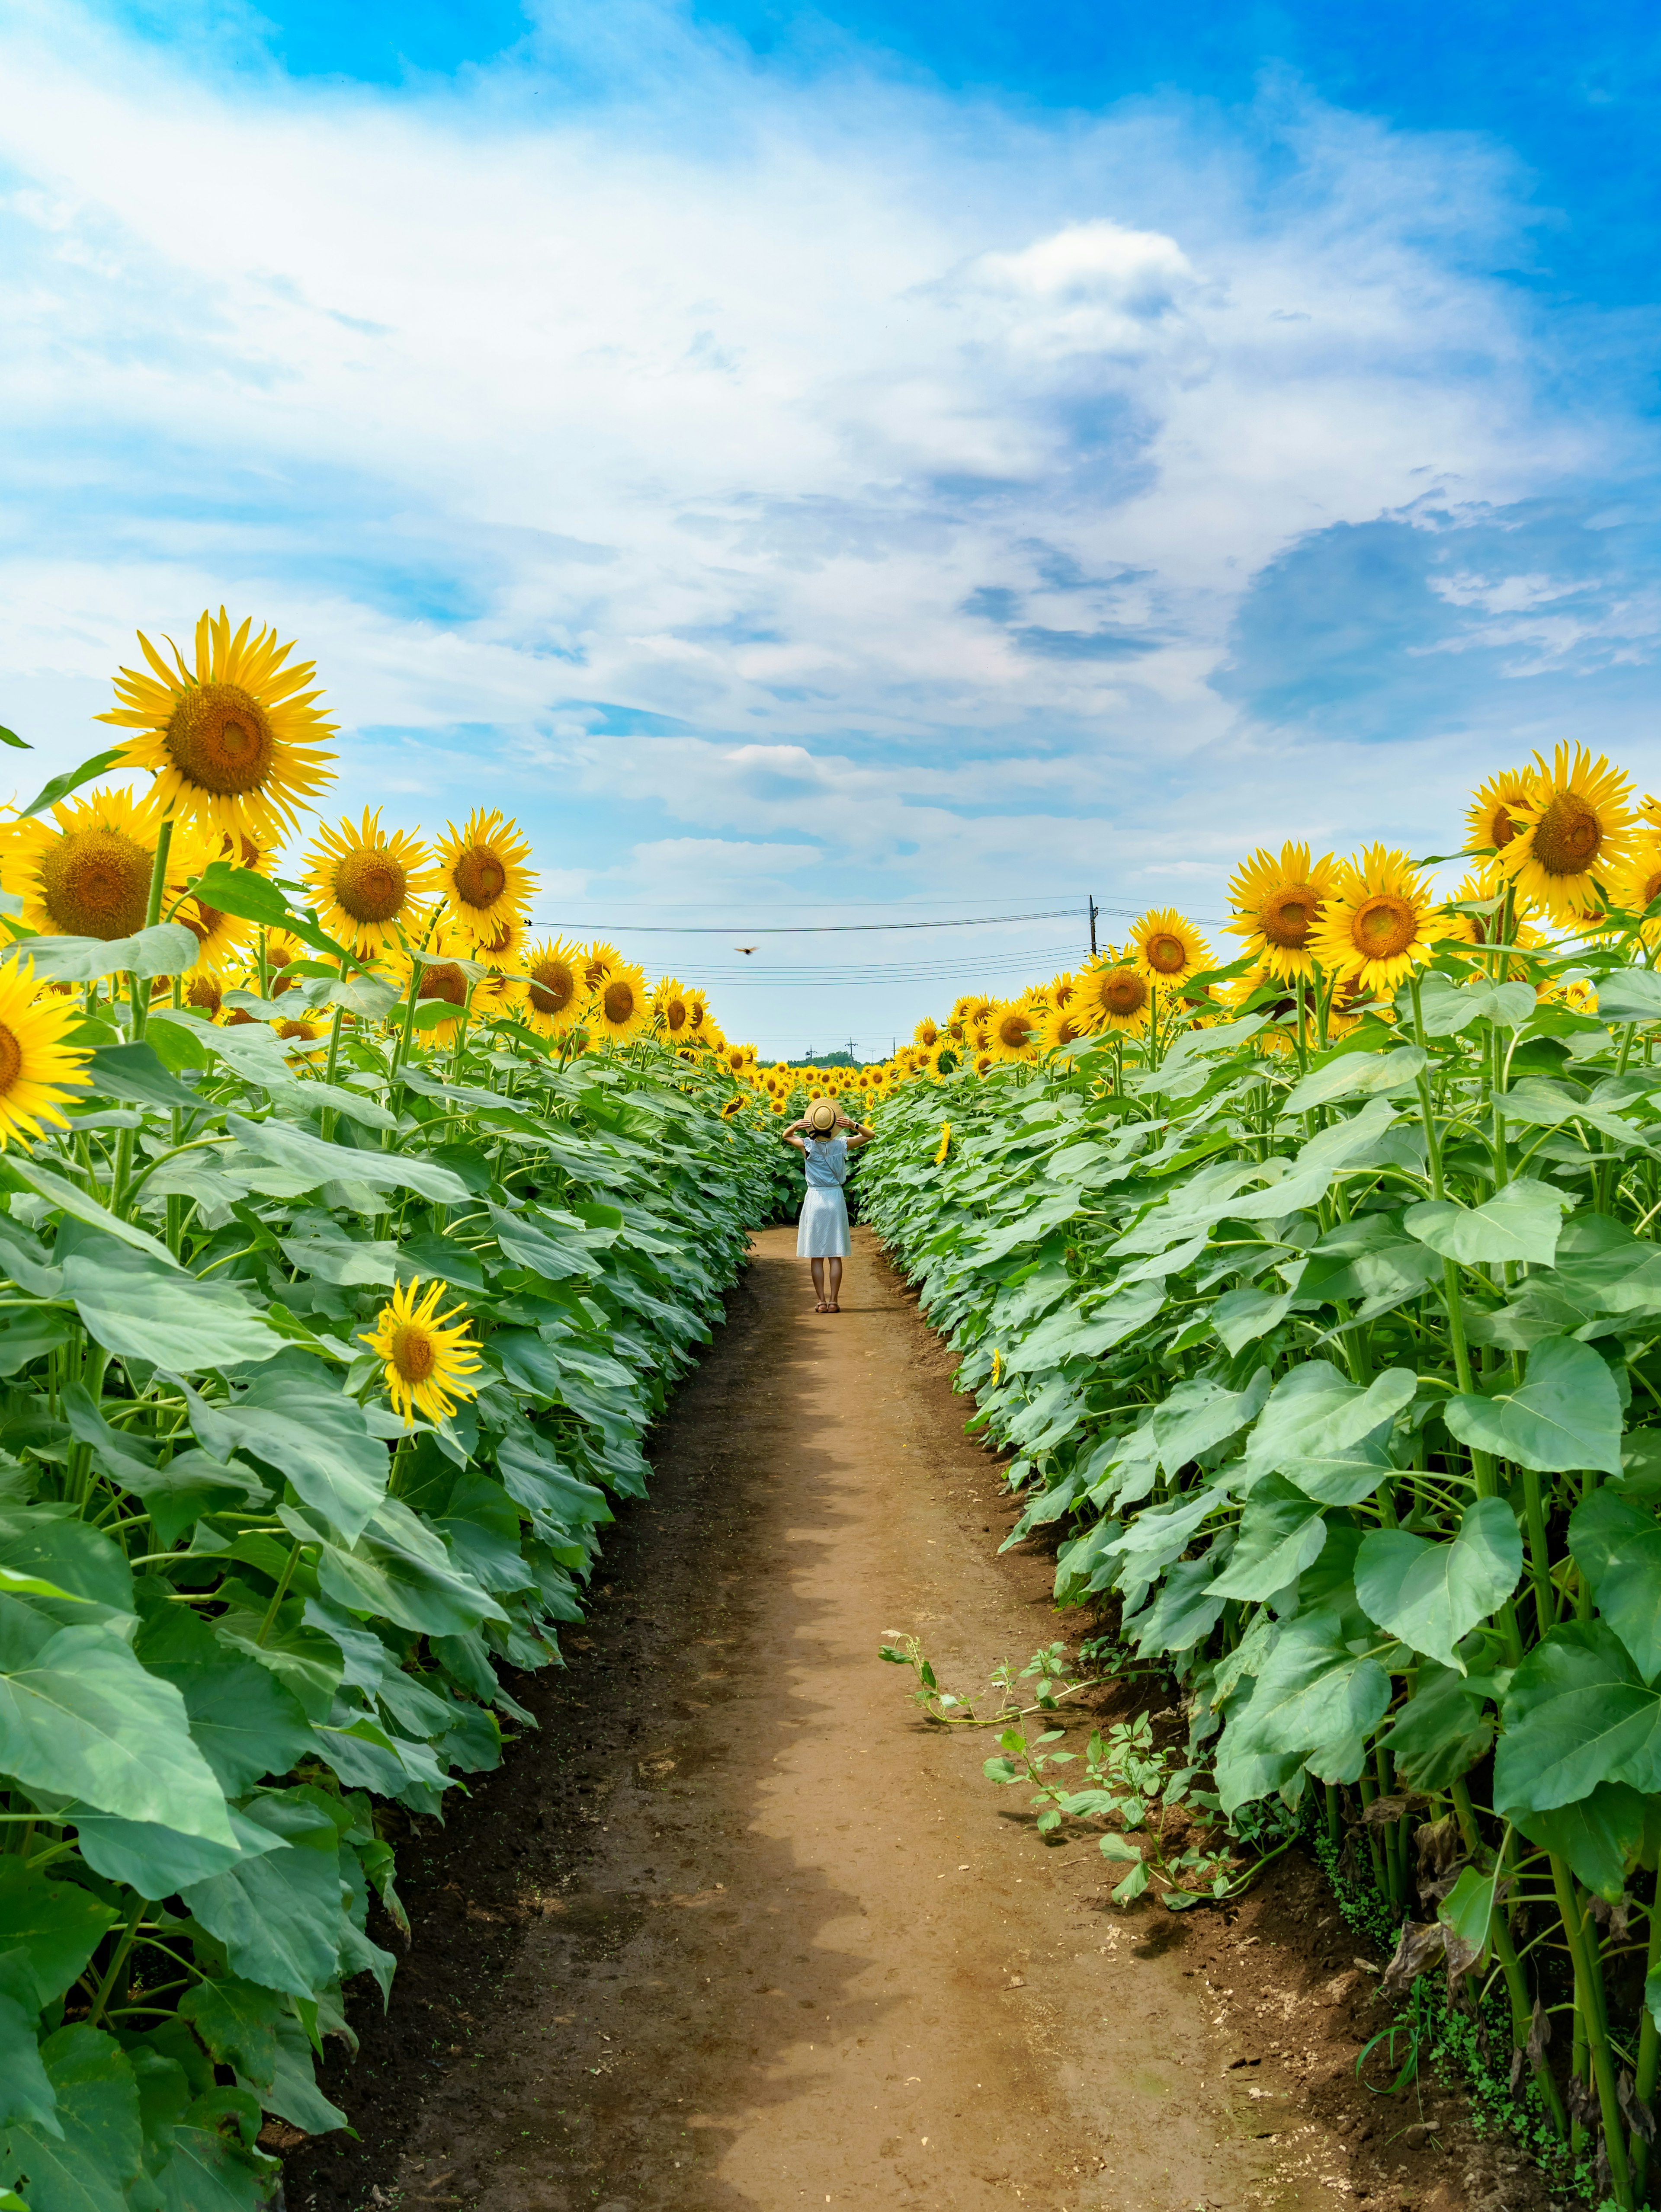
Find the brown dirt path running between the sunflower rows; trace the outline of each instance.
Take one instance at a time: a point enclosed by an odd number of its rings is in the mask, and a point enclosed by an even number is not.
[[[754,1239],[568,1670],[513,1686],[540,1730],[400,1843],[414,1944],[325,2081],[356,2137],[290,2150],[290,2212],[1544,2203],[1458,2095],[1356,2081],[1378,1960],[1316,1867],[1121,1911],[878,1663],[1079,1637],[967,1411],[869,1230],[825,1316]]]

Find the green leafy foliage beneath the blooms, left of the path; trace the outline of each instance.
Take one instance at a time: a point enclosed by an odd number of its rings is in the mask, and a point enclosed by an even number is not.
[[[352,991],[318,967],[283,1013]],[[345,1982],[391,1982],[387,1807],[442,1814],[531,1725],[509,1683],[557,1663],[783,1190],[650,1042],[405,1057],[380,987],[325,1082],[148,995],[82,1024],[71,1128],[0,1155],[0,2203],[31,2212],[248,2212],[263,2115],[341,2124],[314,2057]],[[407,1431],[361,1336],[411,1279],[484,1369]]]

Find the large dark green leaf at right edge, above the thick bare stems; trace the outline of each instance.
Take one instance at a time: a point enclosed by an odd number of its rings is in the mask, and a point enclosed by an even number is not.
[[[1661,1697],[1603,1621],[1550,1628],[1500,1710],[1493,1803],[1508,1820],[1573,1805],[1603,1781],[1661,1790]]]

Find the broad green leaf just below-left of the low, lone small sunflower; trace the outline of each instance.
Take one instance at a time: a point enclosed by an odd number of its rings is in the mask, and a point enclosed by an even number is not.
[[[228,1402],[210,1405],[186,1385],[190,1427],[217,1460],[248,1451],[288,1475],[296,1495],[352,1544],[387,1493],[387,1447],[369,1433],[356,1398],[332,1389],[318,1363],[305,1365],[316,1365],[318,1380],[285,1360],[281,1374],[259,1376]]]

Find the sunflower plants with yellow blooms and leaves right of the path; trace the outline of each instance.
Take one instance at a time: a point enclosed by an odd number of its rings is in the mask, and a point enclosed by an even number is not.
[[[1258,852],[1232,962],[1161,911],[960,1002],[878,1086],[860,1181],[1015,1455],[1015,1537],[1051,1524],[1059,1599],[1179,1679],[1177,1794],[1371,1882],[1385,1993],[1444,1980],[1628,2208],[1661,2057],[1661,803],[1537,757],[1455,858],[1449,898],[1378,847]],[[1099,1741],[1101,1787],[1048,1741],[989,1774],[1101,1832],[1121,1902],[1241,1880],[1161,1856]]]

